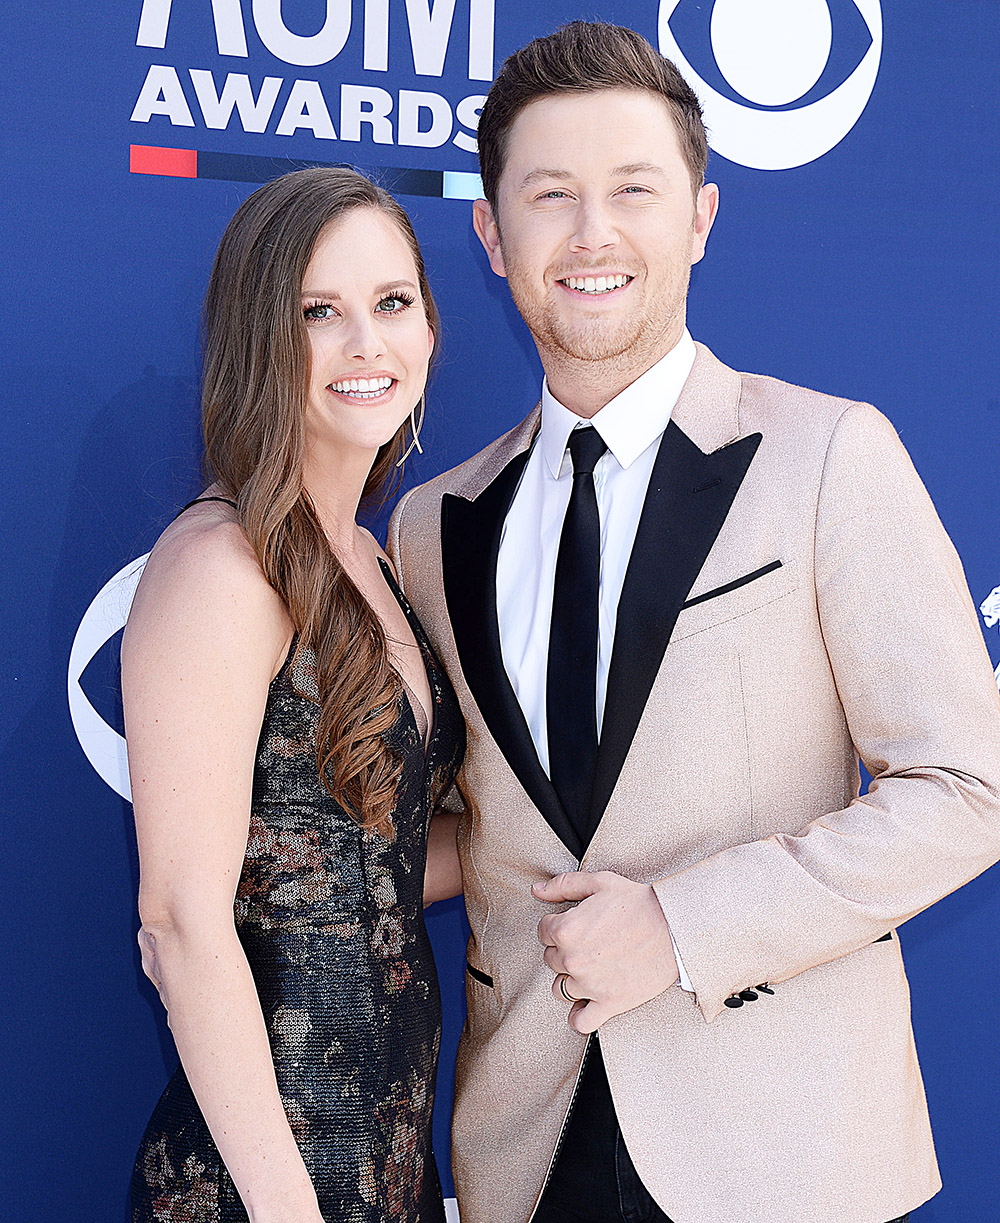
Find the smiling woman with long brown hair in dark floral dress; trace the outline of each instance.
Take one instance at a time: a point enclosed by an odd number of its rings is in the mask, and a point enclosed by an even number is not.
[[[181,1058],[133,1219],[439,1223],[422,906],[460,890],[452,817],[429,848],[428,823],[463,729],[356,522],[416,443],[438,335],[406,214],[348,170],[268,183],[204,322],[215,483],[122,643],[139,943]]]

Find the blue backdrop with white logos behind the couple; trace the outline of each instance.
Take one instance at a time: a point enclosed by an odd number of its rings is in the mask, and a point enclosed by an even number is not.
[[[693,278],[694,336],[737,368],[881,407],[977,604],[1000,585],[995,5],[12,6],[0,481],[0,1213],[11,1219],[120,1223],[174,1062],[134,945],[117,692],[128,583],[99,592],[199,488],[197,319],[222,229],[287,159],[347,161],[400,192],[445,345],[407,479],[458,462],[531,407],[540,377],[469,225],[478,100],[504,56],[581,16],[659,39],[707,104],[722,205]],[[993,615],[984,627],[995,663]],[[999,881],[988,873],[902,931],[945,1179],[918,1223],[996,1208]],[[429,925],[447,1022],[436,1118],[447,1183],[460,904]]]

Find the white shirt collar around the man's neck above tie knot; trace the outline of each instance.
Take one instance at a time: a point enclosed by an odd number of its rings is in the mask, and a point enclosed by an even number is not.
[[[593,424],[620,466],[630,467],[666,428],[693,364],[694,341],[685,328],[666,356],[609,400],[589,421],[560,404],[543,380],[538,444],[553,479],[559,479],[570,434],[583,424]]]

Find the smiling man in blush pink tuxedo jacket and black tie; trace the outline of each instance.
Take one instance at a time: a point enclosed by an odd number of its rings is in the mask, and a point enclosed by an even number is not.
[[[718,190],[639,35],[517,53],[479,148],[542,402],[390,531],[469,728],[463,1223],[899,1219],[940,1183],[894,929],[1000,856],[957,556],[874,408],[688,336]]]

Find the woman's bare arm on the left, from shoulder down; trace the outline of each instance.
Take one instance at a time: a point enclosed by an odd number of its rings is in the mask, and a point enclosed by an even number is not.
[[[290,637],[240,528],[202,511],[156,545],[122,642],[143,967],[253,1223],[322,1223],[232,911]]]

